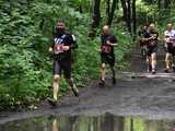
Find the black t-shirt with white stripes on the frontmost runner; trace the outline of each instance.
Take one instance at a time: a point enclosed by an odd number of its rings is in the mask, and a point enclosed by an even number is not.
[[[65,51],[59,49],[58,47],[60,46],[70,46],[70,49]],[[61,35],[60,34],[55,34],[52,38],[52,48],[54,48],[54,55],[61,55],[63,58],[71,58],[71,49],[75,48],[75,37],[71,35],[69,32],[63,32]]]

